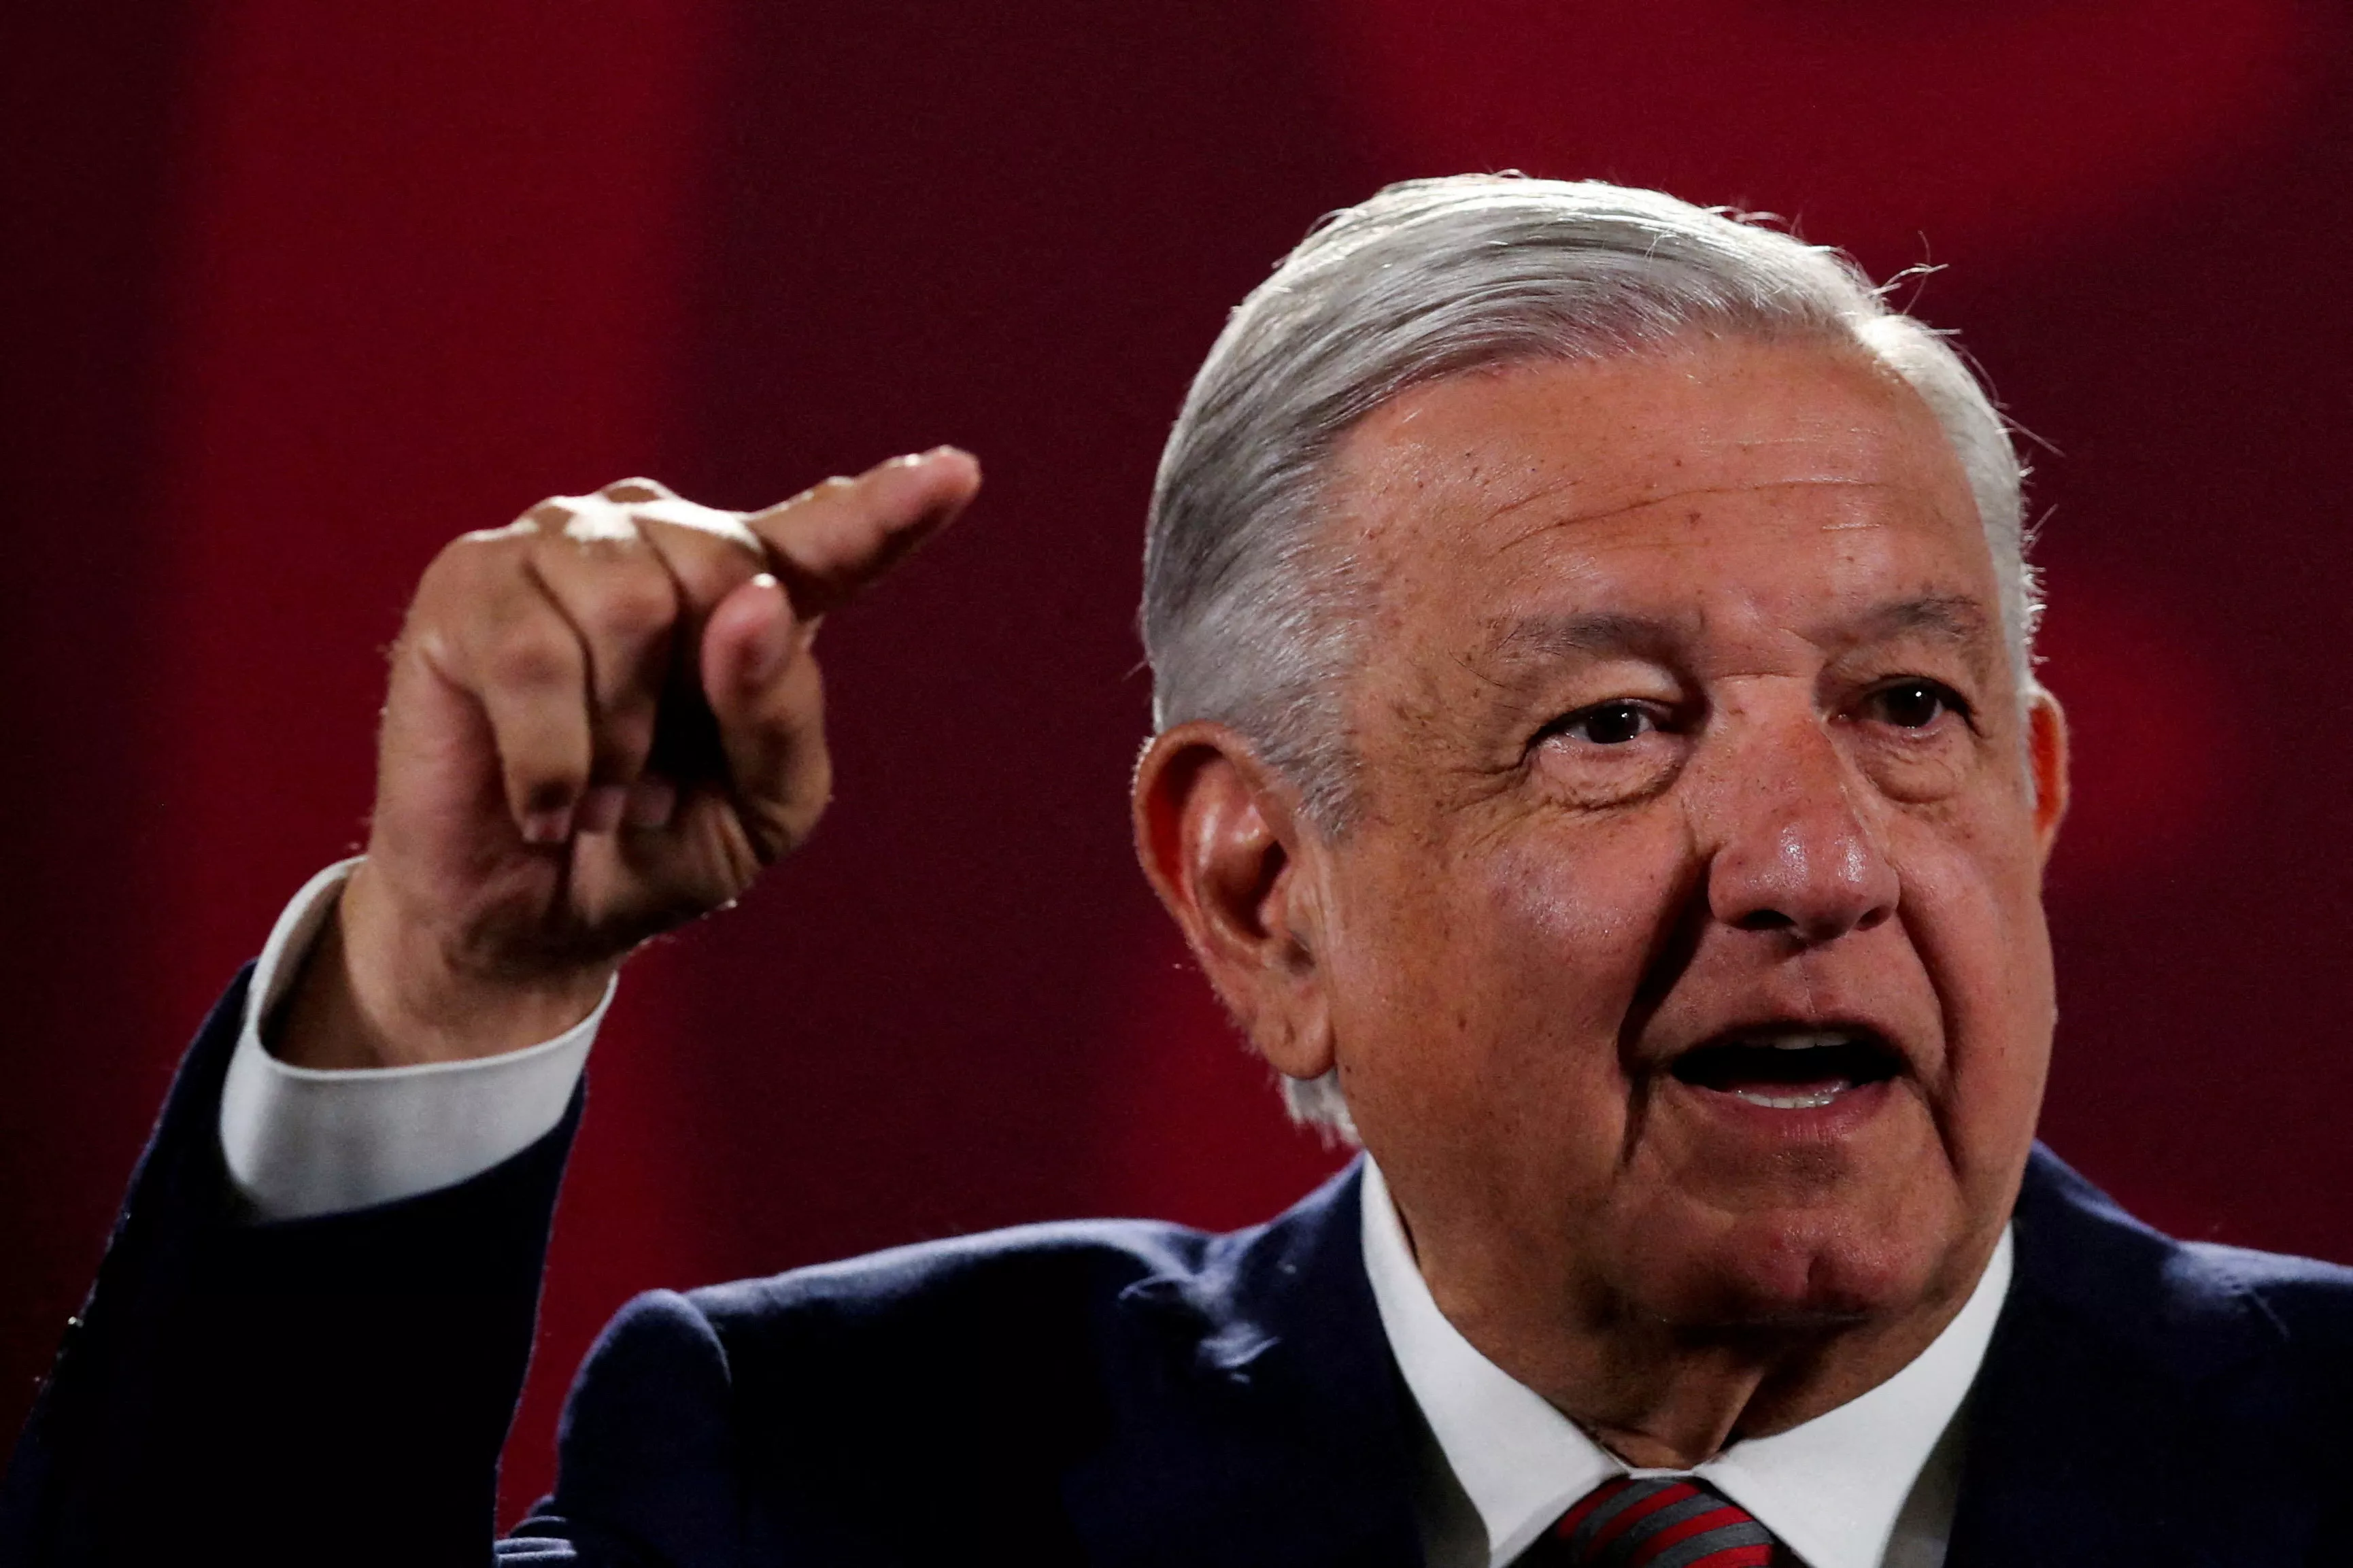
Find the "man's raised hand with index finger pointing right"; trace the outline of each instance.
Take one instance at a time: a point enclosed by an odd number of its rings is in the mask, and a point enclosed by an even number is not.
[[[518,1050],[741,897],[831,791],[819,622],[976,490],[939,447],[760,513],[621,480],[449,544],[393,647],[367,859],[278,1055]]]

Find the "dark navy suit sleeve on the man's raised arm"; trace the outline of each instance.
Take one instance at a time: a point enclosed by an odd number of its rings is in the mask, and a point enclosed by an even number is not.
[[[0,1561],[492,1556],[499,1448],[581,1099],[456,1187],[249,1222],[219,1140],[249,975],[181,1062],[19,1441]]]

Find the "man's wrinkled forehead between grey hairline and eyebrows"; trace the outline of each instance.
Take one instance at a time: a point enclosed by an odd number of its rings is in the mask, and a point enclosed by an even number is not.
[[[1701,341],[1435,381],[1351,433],[1332,494],[1393,614],[1802,631],[1922,596],[1993,614],[1944,431],[1840,346]]]

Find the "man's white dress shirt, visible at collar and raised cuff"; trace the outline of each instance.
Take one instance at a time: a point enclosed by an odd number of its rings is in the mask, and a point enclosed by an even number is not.
[[[553,1041],[475,1062],[320,1071],[261,1043],[358,862],[320,871],[271,930],[221,1090],[221,1151],[266,1220],[391,1203],[464,1182],[544,1137],[572,1099],[612,986]],[[1501,1568],[1569,1504],[1631,1471],[1541,1394],[1471,1347],[1438,1311],[1379,1165],[1365,1163],[1365,1271],[1381,1330],[1419,1406],[1417,1502],[1431,1568]],[[1941,1568],[1960,1481],[1962,1398],[2009,1290],[2012,1243],[1960,1314],[1861,1398],[1697,1474],[1781,1537],[1807,1568]]]

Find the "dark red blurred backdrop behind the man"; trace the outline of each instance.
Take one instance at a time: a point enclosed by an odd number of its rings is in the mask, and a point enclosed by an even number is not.
[[[19,7],[31,12],[33,7]],[[2042,443],[2049,1137],[2353,1257],[2353,59],[2292,0],[151,0],[0,38],[0,1424],[188,1029],[360,833],[438,542],[896,450],[969,525],[828,638],[840,805],[598,1048],[508,1495],[628,1293],[1014,1220],[1242,1222],[1289,1132],[1129,866],[1153,457],[1386,179],[1525,167],[1948,271]]]

